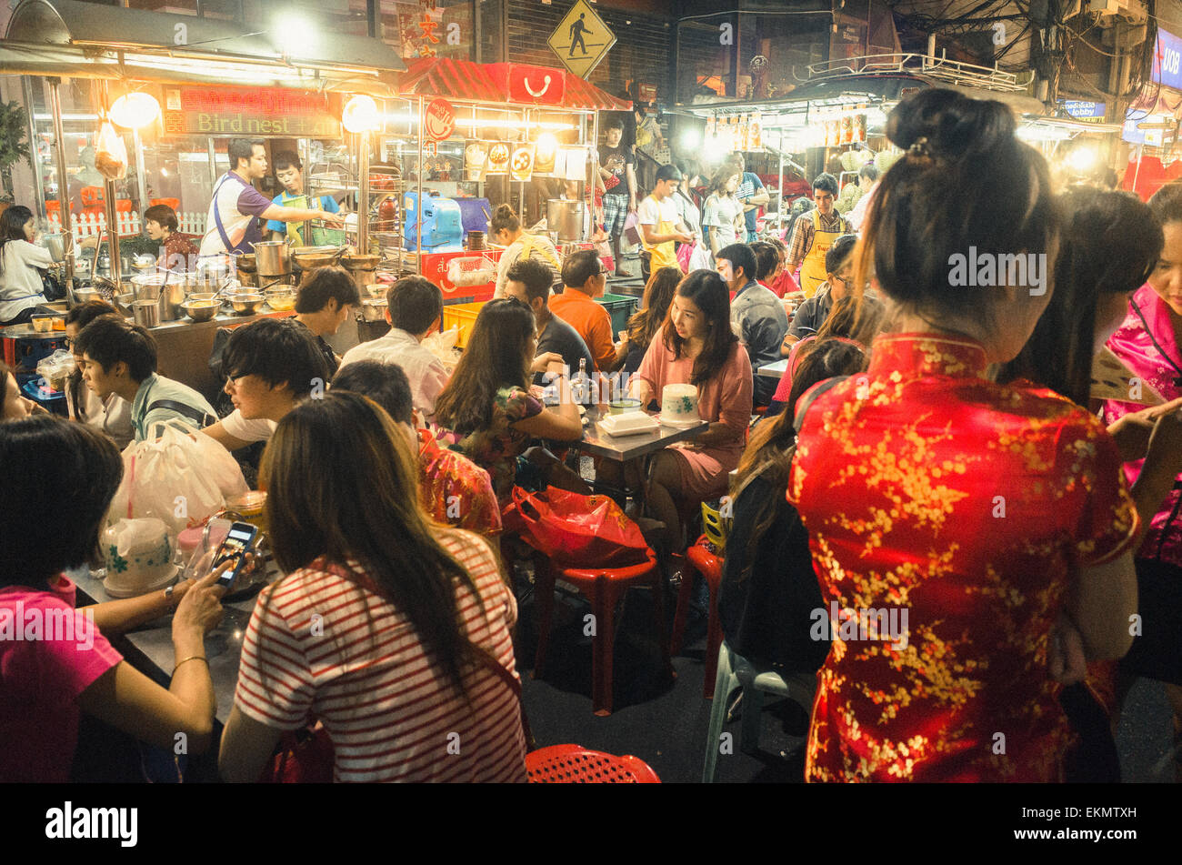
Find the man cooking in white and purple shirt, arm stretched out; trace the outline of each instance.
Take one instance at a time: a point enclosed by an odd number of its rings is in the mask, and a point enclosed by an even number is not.
[[[252,252],[252,245],[262,240],[260,217],[278,222],[304,222],[310,219],[323,219],[332,225],[344,222],[340,214],[279,207],[251,186],[267,173],[267,151],[261,141],[233,138],[227,152],[233,168],[214,187],[206,236],[201,239],[202,259]]]

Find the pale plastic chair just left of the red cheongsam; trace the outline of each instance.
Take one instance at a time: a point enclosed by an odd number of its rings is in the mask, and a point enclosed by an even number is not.
[[[812,715],[813,695],[817,692],[817,675],[782,674],[752,664],[747,658],[730,651],[723,643],[719,646],[717,676],[714,682],[714,704],[710,707],[710,727],[706,734],[706,763],[702,767],[702,783],[714,783],[714,769],[719,762],[719,744],[722,727],[727,721],[727,704],[730,692],[742,688],[742,729],[740,748],[745,754],[759,750],[759,722],[764,710],[764,694],[787,697],[804,707]]]

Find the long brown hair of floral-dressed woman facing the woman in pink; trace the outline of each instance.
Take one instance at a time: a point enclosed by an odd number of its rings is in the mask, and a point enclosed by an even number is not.
[[[488,429],[496,391],[528,385],[526,349],[535,330],[533,310],[517,298],[485,304],[455,372],[435,401],[436,422],[461,436]]]

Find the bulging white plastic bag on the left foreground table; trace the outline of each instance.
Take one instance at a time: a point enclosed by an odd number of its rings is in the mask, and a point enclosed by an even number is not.
[[[183,424],[160,424],[163,435],[123,451],[123,481],[108,521],[156,516],[180,533],[225,509],[247,492],[242,469],[221,444]]]

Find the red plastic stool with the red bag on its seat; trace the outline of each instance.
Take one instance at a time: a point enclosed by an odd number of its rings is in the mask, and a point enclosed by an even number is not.
[[[528,540],[526,540],[528,542]],[[554,613],[554,583],[561,578],[573,584],[583,596],[591,601],[595,612],[596,636],[592,640],[591,655],[591,704],[595,714],[611,714],[611,664],[616,636],[616,604],[632,586],[651,585],[655,594],[652,614],[656,619],[657,639],[661,642],[661,653],[670,678],[677,676],[669,662],[669,644],[664,633],[664,586],[657,557],[647,551],[648,561],[642,565],[623,567],[605,566],[602,568],[560,567],[556,577],[553,562],[545,555],[538,558],[534,574],[539,605],[538,653],[533,662],[533,677],[541,678],[546,665],[546,648],[550,643],[550,627]]]

